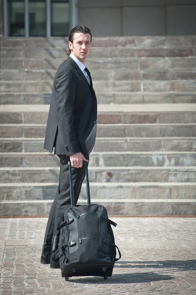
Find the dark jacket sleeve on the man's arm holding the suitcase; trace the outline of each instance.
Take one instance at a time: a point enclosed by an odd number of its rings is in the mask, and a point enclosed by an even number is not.
[[[55,79],[55,109],[58,117],[58,128],[62,134],[66,155],[80,152],[74,125],[74,102],[76,93],[76,78],[70,70],[56,74]]]

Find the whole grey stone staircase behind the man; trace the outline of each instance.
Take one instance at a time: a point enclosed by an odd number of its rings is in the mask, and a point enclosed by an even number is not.
[[[94,38],[91,199],[110,215],[196,215],[196,36]],[[0,216],[47,216],[59,161],[43,149],[62,38],[2,38]],[[83,185],[80,204],[85,204]]]

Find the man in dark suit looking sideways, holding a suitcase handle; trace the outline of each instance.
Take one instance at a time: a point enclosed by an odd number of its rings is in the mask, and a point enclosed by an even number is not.
[[[97,100],[90,72],[85,66],[91,48],[90,29],[76,26],[69,33],[68,59],[57,69],[46,126],[44,148],[60,158],[59,185],[48,218],[41,264],[58,268],[51,260],[56,228],[71,203],[68,161],[71,161],[75,205],[85,177],[83,161],[89,160],[96,137]]]

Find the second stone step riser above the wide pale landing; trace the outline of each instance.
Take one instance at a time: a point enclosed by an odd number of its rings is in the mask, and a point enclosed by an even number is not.
[[[43,81],[4,81],[0,84],[0,92],[46,92],[53,90],[53,80]],[[121,81],[94,81],[93,88],[96,92],[162,92],[162,91],[190,91],[196,92],[195,80],[121,80]]]

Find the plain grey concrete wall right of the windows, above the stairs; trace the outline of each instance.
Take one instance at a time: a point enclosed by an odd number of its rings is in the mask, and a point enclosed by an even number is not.
[[[196,34],[196,0],[79,0],[94,36]]]

